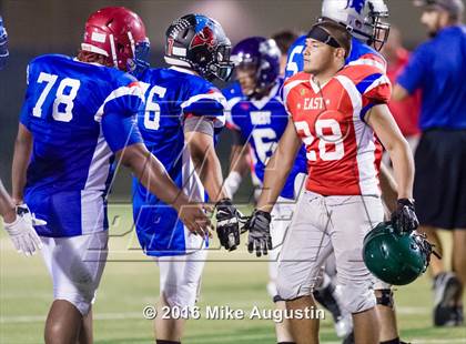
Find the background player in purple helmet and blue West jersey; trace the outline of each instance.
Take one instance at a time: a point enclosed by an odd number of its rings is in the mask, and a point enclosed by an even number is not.
[[[253,173],[262,188],[266,162],[285,131],[288,118],[281,99],[280,90],[283,87],[283,79],[278,77],[280,50],[275,42],[261,37],[242,40],[233,48],[232,60],[236,64],[237,82],[223,90],[229,104],[227,123],[234,138],[231,170],[225,179],[225,189],[231,195],[236,192],[242,175],[250,169],[250,154],[253,154],[251,159]],[[303,146],[272,211],[273,250],[269,259],[267,291],[280,310],[285,310],[285,303],[276,291],[277,260],[283,237],[295,210],[298,196],[298,191],[295,190],[301,190],[306,173]],[[332,296],[333,290],[334,285],[327,279],[325,289],[321,289],[315,294],[317,301],[324,303],[324,306],[332,312],[337,335],[343,337],[352,331],[351,315],[347,314],[350,318],[342,317],[341,310]],[[322,294],[325,293],[328,295],[323,300]],[[278,343],[293,341],[286,320],[277,323],[275,330]]]

